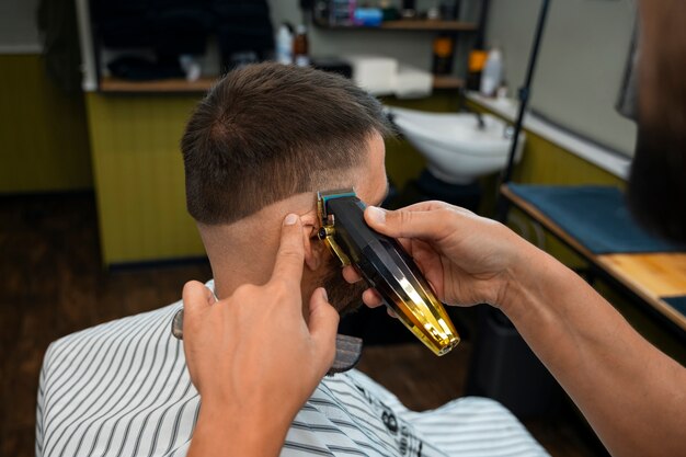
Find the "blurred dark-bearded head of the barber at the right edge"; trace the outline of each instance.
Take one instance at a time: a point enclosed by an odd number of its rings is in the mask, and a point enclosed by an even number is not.
[[[629,204],[659,235],[686,243],[686,2],[641,2],[639,136]]]

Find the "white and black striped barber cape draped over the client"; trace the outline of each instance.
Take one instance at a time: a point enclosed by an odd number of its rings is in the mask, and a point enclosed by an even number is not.
[[[211,286],[211,284],[209,284]],[[199,397],[170,332],[181,301],[50,345],[41,372],[36,456],[185,456]],[[325,378],[282,456],[546,456],[502,405],[462,398],[407,410],[358,372]]]

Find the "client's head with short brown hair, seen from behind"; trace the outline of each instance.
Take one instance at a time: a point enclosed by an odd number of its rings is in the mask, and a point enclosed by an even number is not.
[[[227,75],[201,102],[182,139],[188,213],[198,224],[218,295],[268,279],[281,220],[301,216],[302,290],[325,285],[342,310],[362,290],[341,278],[318,229],[316,192],[386,195],[381,105],[339,76],[260,64]]]

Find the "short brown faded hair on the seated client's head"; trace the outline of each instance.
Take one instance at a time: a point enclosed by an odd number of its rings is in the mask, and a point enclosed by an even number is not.
[[[364,163],[390,129],[381,104],[343,77],[274,62],[233,70],[181,140],[191,216],[231,224]]]

